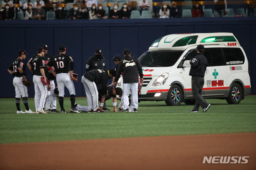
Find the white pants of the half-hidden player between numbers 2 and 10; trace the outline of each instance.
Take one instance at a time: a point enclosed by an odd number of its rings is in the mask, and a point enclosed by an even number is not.
[[[57,108],[56,95],[54,94],[54,89],[55,89],[54,80],[50,80],[50,85],[51,85],[51,89],[50,91],[47,90],[47,95],[46,95],[46,105],[45,105],[46,110],[51,109],[50,104],[52,104],[52,109]]]

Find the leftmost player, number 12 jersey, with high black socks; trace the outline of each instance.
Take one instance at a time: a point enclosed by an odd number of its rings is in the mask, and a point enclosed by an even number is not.
[[[32,112],[28,107],[28,92],[27,87],[22,84],[22,79],[26,78],[26,65],[23,60],[25,60],[26,53],[25,50],[18,51],[18,58],[12,62],[11,66],[8,68],[8,72],[14,76],[13,85],[15,87],[15,103],[17,107],[17,114],[21,113],[35,113]],[[20,98],[22,97],[23,104],[26,107],[26,111],[22,112],[20,109]]]

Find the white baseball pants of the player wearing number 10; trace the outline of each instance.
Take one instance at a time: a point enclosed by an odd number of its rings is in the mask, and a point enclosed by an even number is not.
[[[59,97],[64,97],[64,88],[69,91],[69,95],[75,95],[75,87],[73,81],[70,78],[69,73],[59,73],[56,75],[56,82],[59,90]]]

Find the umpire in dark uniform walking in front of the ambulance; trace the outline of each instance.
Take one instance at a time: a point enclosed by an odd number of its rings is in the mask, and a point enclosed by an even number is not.
[[[203,55],[204,46],[200,44],[196,47],[196,49],[197,55],[192,60],[190,60],[191,67],[189,73],[189,75],[192,76],[192,94],[196,99],[196,103],[190,112],[198,112],[199,106],[203,108],[203,112],[206,112],[210,107],[210,104],[202,97],[202,90],[204,85],[204,74],[208,65],[208,61]]]

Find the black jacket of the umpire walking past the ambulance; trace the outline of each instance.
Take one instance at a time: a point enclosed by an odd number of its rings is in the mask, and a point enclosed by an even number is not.
[[[204,77],[208,61],[202,52],[198,53],[194,58],[192,58],[190,65],[191,67],[189,75]]]

